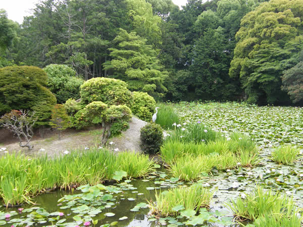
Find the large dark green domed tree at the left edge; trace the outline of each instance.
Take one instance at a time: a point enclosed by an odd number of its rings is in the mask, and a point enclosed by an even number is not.
[[[46,82],[46,73],[38,67],[0,69],[0,115],[11,109],[29,109],[36,111],[36,125],[47,124],[56,97],[44,87]]]

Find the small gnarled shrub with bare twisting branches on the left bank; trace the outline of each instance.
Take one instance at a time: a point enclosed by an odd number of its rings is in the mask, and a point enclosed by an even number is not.
[[[34,115],[35,112],[13,109],[0,119],[0,124],[16,135],[20,147],[27,147],[29,150],[34,147],[30,145],[30,140],[34,135],[33,126],[37,121]]]

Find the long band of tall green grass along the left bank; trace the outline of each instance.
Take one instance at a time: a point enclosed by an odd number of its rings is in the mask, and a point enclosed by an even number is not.
[[[125,171],[129,178],[143,177],[154,171],[154,161],[144,154],[116,155],[97,148],[76,150],[53,159],[7,154],[0,157],[0,195],[7,205],[30,202],[31,196],[47,190],[112,180],[118,170]]]

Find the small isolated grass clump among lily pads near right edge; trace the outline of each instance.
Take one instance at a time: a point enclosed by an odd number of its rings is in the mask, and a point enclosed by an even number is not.
[[[287,146],[280,146],[272,152],[272,160],[277,163],[283,163],[285,165],[291,165],[293,161],[297,159],[297,155],[299,154],[299,149],[287,145]]]

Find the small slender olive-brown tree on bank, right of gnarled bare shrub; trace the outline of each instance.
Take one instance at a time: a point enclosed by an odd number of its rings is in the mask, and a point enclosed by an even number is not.
[[[67,129],[70,126],[70,118],[67,115],[66,109],[62,104],[56,104],[52,109],[51,123],[52,128],[59,131],[58,139],[61,139],[61,131]]]

